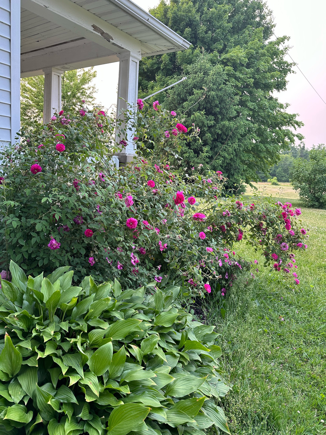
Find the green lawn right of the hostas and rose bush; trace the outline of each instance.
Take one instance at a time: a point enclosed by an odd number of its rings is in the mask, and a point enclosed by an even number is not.
[[[326,210],[302,212],[310,238],[296,254],[299,286],[260,257],[256,278],[227,296],[224,319],[206,298],[233,384],[223,401],[233,434],[326,434]],[[257,258],[245,242],[237,252]]]

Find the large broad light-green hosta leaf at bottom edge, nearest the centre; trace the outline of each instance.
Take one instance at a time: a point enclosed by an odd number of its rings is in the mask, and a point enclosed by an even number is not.
[[[110,414],[108,435],[126,435],[145,420],[150,408],[136,403],[127,403],[114,408]]]

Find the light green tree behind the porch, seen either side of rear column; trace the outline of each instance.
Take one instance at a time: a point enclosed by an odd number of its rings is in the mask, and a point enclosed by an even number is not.
[[[76,110],[81,100],[92,104],[96,87],[91,84],[96,77],[93,67],[89,70],[71,70],[62,74],[62,108]],[[44,76],[27,77],[20,80],[20,116],[22,123],[31,118],[43,119]]]

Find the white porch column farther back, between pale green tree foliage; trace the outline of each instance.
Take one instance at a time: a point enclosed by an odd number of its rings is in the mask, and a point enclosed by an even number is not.
[[[43,124],[50,122],[55,112],[61,110],[61,74],[57,68],[44,68]]]

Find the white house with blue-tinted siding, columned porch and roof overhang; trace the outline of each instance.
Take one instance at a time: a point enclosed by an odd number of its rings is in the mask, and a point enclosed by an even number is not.
[[[46,123],[60,110],[63,71],[119,62],[119,114],[136,104],[143,56],[189,47],[130,0],[0,0],[0,141],[14,142],[20,128],[20,77],[45,74]]]

